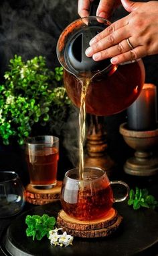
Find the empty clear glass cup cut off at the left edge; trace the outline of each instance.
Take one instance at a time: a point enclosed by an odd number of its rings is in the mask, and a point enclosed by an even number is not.
[[[0,171],[0,218],[14,216],[25,204],[25,189],[19,175],[12,171]]]

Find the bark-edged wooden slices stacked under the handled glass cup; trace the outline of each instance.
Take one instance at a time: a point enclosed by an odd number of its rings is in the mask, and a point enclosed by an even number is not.
[[[58,214],[57,226],[72,236],[96,238],[112,234],[120,226],[122,220],[123,217],[114,208],[104,218],[92,221],[76,220],[61,210]]]

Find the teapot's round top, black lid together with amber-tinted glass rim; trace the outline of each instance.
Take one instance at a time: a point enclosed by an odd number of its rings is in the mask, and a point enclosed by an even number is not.
[[[94,61],[85,54],[90,40],[110,25],[108,20],[89,16],[72,22],[60,35],[57,55],[62,66],[75,75],[102,71],[111,63],[110,59]]]

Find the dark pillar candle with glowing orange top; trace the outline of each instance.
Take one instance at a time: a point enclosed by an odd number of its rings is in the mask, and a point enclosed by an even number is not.
[[[144,84],[141,94],[127,108],[127,125],[131,130],[149,131],[157,127],[157,88]]]

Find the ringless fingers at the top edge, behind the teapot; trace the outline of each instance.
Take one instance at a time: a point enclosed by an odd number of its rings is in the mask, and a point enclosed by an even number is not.
[[[94,0],[78,0],[78,14],[80,17],[89,16],[90,3]],[[120,0],[100,0],[96,16],[104,19],[110,18],[113,9],[120,3]]]

